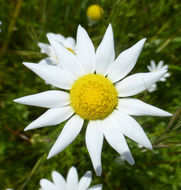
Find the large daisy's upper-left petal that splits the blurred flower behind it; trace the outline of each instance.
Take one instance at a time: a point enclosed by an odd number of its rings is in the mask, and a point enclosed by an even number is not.
[[[59,44],[58,42],[54,41],[47,35],[54,51],[56,53],[57,59],[61,67],[71,73],[75,79],[80,76],[82,73],[82,68],[78,64],[75,55],[70,52],[67,48]],[[82,72],[81,72],[82,71]]]

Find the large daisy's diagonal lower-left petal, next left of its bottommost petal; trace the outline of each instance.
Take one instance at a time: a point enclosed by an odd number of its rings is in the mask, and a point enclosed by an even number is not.
[[[74,115],[67,121],[58,139],[51,148],[47,157],[48,159],[64,150],[69,144],[73,142],[73,140],[80,133],[83,126],[83,122],[84,120],[80,118],[78,115]]]

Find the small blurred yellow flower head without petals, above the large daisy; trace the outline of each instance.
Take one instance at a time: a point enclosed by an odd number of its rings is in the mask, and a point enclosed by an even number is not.
[[[100,20],[102,18],[102,14],[103,9],[97,4],[93,4],[87,9],[87,16],[93,21]]]

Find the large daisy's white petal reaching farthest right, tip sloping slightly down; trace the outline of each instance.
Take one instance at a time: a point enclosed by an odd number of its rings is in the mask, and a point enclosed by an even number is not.
[[[121,98],[117,108],[128,115],[172,116],[172,114],[164,110],[133,98]]]

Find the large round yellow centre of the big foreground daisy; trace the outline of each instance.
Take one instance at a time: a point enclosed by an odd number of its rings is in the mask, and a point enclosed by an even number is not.
[[[87,74],[73,84],[70,102],[75,113],[83,119],[104,119],[117,106],[118,93],[108,78]]]

